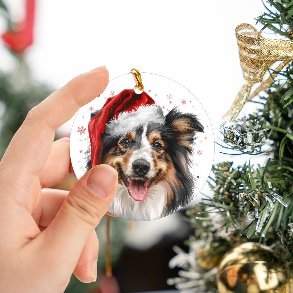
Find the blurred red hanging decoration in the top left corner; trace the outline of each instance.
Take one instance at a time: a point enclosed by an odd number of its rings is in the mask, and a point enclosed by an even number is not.
[[[35,0],[26,0],[25,19],[16,24],[14,30],[2,35],[6,45],[16,53],[22,53],[33,43],[33,27],[35,20]]]

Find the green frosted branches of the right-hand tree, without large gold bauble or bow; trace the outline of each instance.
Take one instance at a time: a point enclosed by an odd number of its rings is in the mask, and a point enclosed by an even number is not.
[[[263,23],[263,30],[270,29],[280,38],[293,39],[293,0],[268,0],[264,5],[265,13],[257,18],[257,22]],[[262,92],[262,108],[233,125],[221,126],[221,145],[229,153],[268,153],[271,159],[265,166],[235,167],[232,162],[214,165],[208,179],[213,197],[205,198],[186,212],[194,235],[185,242],[191,260],[184,258],[181,267],[201,273],[205,292],[217,292],[213,281],[216,272],[201,268],[198,260],[195,266],[193,255],[198,255],[201,248],[206,250],[208,262],[221,258],[239,243],[260,242],[272,246],[293,275],[292,62],[277,74],[270,88]],[[213,265],[217,267],[214,262]],[[179,278],[173,282],[181,288],[186,285],[184,282],[191,284],[191,280],[191,277]],[[198,277],[192,289],[202,292],[197,280]]]

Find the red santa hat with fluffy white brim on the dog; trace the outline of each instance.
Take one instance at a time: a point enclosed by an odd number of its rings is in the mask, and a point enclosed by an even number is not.
[[[101,163],[105,132],[113,135],[125,135],[137,125],[149,121],[163,124],[164,117],[155,101],[146,93],[137,94],[134,89],[125,89],[118,95],[108,98],[99,113],[88,123],[91,142],[91,167]]]

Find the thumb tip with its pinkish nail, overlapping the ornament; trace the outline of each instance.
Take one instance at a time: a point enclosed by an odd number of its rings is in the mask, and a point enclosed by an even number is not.
[[[99,165],[88,178],[88,187],[98,196],[107,197],[117,184],[117,171],[108,165]]]

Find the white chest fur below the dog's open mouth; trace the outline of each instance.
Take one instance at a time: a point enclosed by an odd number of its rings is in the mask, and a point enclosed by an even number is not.
[[[149,188],[144,201],[133,200],[127,189],[118,184],[117,192],[108,211],[118,217],[146,221],[161,218],[166,209],[166,204],[167,193],[160,184]]]

